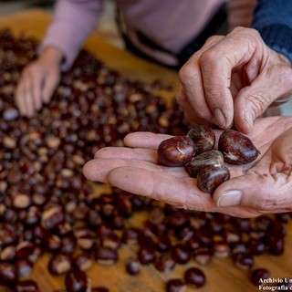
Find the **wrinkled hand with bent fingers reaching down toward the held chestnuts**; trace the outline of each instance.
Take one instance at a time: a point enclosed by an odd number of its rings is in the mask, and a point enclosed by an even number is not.
[[[255,29],[236,27],[212,36],[181,68],[177,100],[191,123],[249,133],[276,99],[292,95],[287,57],[266,46]]]

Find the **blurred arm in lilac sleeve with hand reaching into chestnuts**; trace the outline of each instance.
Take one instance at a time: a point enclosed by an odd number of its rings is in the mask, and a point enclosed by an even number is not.
[[[101,11],[101,0],[59,0],[36,60],[24,68],[16,88],[20,114],[32,117],[52,97],[60,71],[68,70]]]

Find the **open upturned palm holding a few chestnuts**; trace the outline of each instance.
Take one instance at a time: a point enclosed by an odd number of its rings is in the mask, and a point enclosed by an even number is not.
[[[110,183],[122,190],[203,212],[237,217],[292,210],[292,117],[255,120],[248,137],[261,152],[253,165],[226,165],[231,179],[212,196],[203,193],[183,167],[157,164],[156,149],[171,136],[135,132],[126,147],[107,147],[84,166],[91,181]],[[217,138],[222,130],[215,130]]]

